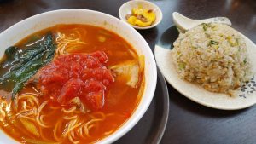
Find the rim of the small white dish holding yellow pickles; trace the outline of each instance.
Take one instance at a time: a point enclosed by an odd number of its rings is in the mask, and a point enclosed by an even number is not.
[[[125,8],[125,6],[126,6],[127,4],[129,4],[129,3],[137,3],[137,2],[150,4],[150,5],[152,5],[155,9],[157,9],[157,10],[160,12],[160,15],[159,15],[159,18],[158,18],[159,20],[158,20],[158,21],[155,21],[155,22],[153,23],[153,25],[151,25],[151,26],[144,26],[144,27],[141,27],[141,26],[133,26],[133,25],[129,24],[129,23],[127,22],[127,20],[124,20],[123,17],[122,17],[121,11]],[[156,16],[157,16],[157,15],[156,15]],[[138,30],[147,30],[147,29],[153,28],[154,26],[157,26],[158,24],[160,24],[160,22],[161,22],[162,19],[163,19],[163,14],[162,14],[161,9],[160,9],[156,4],[154,4],[154,3],[151,3],[151,2],[148,2],[148,1],[145,1],[145,0],[131,0],[131,1],[128,1],[128,2],[126,2],[126,3],[123,3],[123,4],[120,6],[120,8],[119,8],[119,19],[125,21],[125,23],[127,23],[128,25],[130,25],[130,26],[132,26],[133,28],[136,28],[136,29],[138,29]]]

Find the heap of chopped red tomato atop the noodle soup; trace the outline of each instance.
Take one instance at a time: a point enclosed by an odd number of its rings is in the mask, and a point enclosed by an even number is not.
[[[39,89],[61,105],[79,97],[87,107],[100,109],[104,106],[104,93],[114,80],[104,65],[107,61],[103,51],[60,55],[39,71]]]

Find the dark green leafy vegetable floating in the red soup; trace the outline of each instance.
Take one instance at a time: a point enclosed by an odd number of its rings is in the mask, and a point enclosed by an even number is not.
[[[26,85],[39,68],[49,63],[55,54],[55,43],[49,33],[34,43],[26,44],[26,49],[12,46],[5,50],[5,60],[0,66],[0,89],[12,92],[12,99]]]

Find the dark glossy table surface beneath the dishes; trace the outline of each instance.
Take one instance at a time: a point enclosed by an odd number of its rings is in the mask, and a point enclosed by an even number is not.
[[[0,0],[2,1],[2,0]],[[173,26],[172,12],[194,19],[226,16],[232,26],[256,43],[256,1],[254,0],[155,0],[163,12],[159,26],[139,31],[151,49],[162,32]],[[34,14],[55,9],[93,9],[118,17],[124,0],[9,0],[0,3],[0,32]],[[170,112],[161,143],[213,144],[255,143],[256,106],[239,111],[203,107],[179,94],[168,84]]]

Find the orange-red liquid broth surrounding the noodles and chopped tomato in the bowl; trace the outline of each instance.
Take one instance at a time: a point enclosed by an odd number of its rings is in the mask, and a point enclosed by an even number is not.
[[[88,112],[77,112],[76,116],[79,118],[81,123],[85,123],[86,121],[90,121],[92,118],[100,118],[103,120],[97,121],[93,127],[89,130],[89,135],[78,136],[78,134],[73,134],[73,141],[79,143],[95,143],[96,141],[100,141],[108,135],[113,134],[114,131],[118,130],[119,127],[125,123],[130,117],[132,112],[134,112],[137,108],[139,101],[141,100],[141,96],[143,94],[144,89],[144,72],[141,66],[141,62],[139,60],[139,55],[132,48],[130,43],[127,43],[125,39],[120,37],[114,32],[110,32],[102,27],[97,26],[89,26],[89,25],[57,25],[50,28],[47,28],[43,31],[33,33],[32,35],[22,39],[19,43],[15,44],[21,49],[26,49],[26,44],[30,43],[32,39],[35,37],[43,37],[46,33],[51,32],[55,37],[55,44],[57,47],[61,47],[61,38],[60,35],[65,35],[66,37],[72,39],[79,38],[82,42],[75,46],[72,46],[72,43],[69,43],[70,48],[65,49],[69,55],[91,55],[95,52],[101,51],[103,52],[108,60],[101,63],[101,66],[106,68],[108,72],[112,72],[113,81],[110,79],[108,84],[104,86],[104,103],[102,107],[91,108]],[[59,37],[59,39],[58,39]],[[68,39],[67,38],[67,39]],[[66,43],[67,44],[67,43]],[[68,44],[67,44],[68,45]],[[55,52],[55,58],[45,67],[49,66],[54,60],[57,60],[61,54],[59,52]],[[4,57],[3,57],[4,60]],[[118,74],[114,73],[110,67],[116,65],[122,65],[123,63],[127,63],[127,61],[133,61],[137,66],[140,67],[140,71],[138,74],[138,81],[135,86],[131,86],[127,84],[127,78],[122,77],[119,78]],[[72,65],[72,63],[67,63],[67,65]],[[69,71],[73,71],[74,69],[68,69]],[[1,70],[1,71],[4,71]],[[40,70],[39,70],[40,71]],[[58,70],[56,70],[58,71]],[[105,71],[105,70],[104,70]],[[65,72],[64,72],[65,73]],[[40,74],[40,72],[39,72]],[[41,73],[42,74],[42,73]],[[101,74],[101,73],[100,73]],[[40,76],[39,76],[40,77]],[[91,76],[94,77],[94,76]],[[99,76],[105,77],[105,76]],[[109,76],[110,77],[110,76]],[[109,78],[108,77],[108,78]],[[104,81],[105,82],[105,81]],[[38,82],[39,83],[39,82]],[[100,82],[102,83],[102,81]],[[37,89],[38,84],[27,84],[20,92],[19,96],[28,93],[40,93],[41,89]],[[49,87],[48,87],[49,86]],[[45,84],[44,87],[55,88],[52,84]],[[47,89],[47,88],[46,88]],[[56,88],[57,89],[57,88]],[[93,89],[93,88],[89,88]],[[84,92],[86,93],[86,92]],[[83,93],[83,94],[84,94]],[[67,93],[67,95],[72,95],[71,93]],[[79,93],[83,95],[82,93]],[[75,95],[77,95],[75,93]],[[63,108],[66,110],[71,108],[70,106],[63,107],[58,101],[54,101],[50,98],[49,95],[38,94],[36,95],[39,101],[39,105],[44,104],[44,101],[48,101],[48,103],[44,106],[41,113],[46,117],[44,121],[52,126],[44,128],[37,124],[33,119],[28,119],[30,123],[34,124],[38,130],[39,135],[33,135],[31,131],[26,130],[26,126],[24,123],[20,122],[20,117],[15,117],[17,112],[13,109],[14,102],[11,103],[11,112],[6,114],[3,121],[0,121],[0,126],[3,131],[5,131],[9,136],[14,138],[16,141],[24,142],[24,143],[33,143],[35,141],[51,141],[51,142],[60,142],[60,143],[73,143],[73,141],[68,138],[68,136],[64,135],[63,131],[65,128],[67,129],[67,123],[65,120],[61,122],[59,125],[59,130],[56,131],[55,135],[57,135],[57,139],[54,135],[55,126],[60,119],[65,117],[65,112],[63,112]],[[1,97],[1,93],[0,93]],[[3,100],[0,99],[3,102]],[[18,102],[19,105],[22,104],[22,101]],[[8,104],[6,104],[8,105]],[[99,104],[100,105],[100,104]],[[97,105],[97,106],[99,106]],[[1,106],[1,105],[0,105]],[[61,107],[59,109],[53,110],[52,107]],[[88,108],[88,107],[87,107]],[[4,110],[3,110],[4,111]],[[19,107],[18,107],[19,111]],[[7,113],[7,112],[6,112]],[[50,117],[47,117],[50,115]],[[35,116],[36,118],[36,116]],[[78,130],[79,131],[79,130]],[[75,133],[75,132],[74,132]],[[79,133],[79,132],[78,132]],[[69,135],[70,136],[70,135]]]

